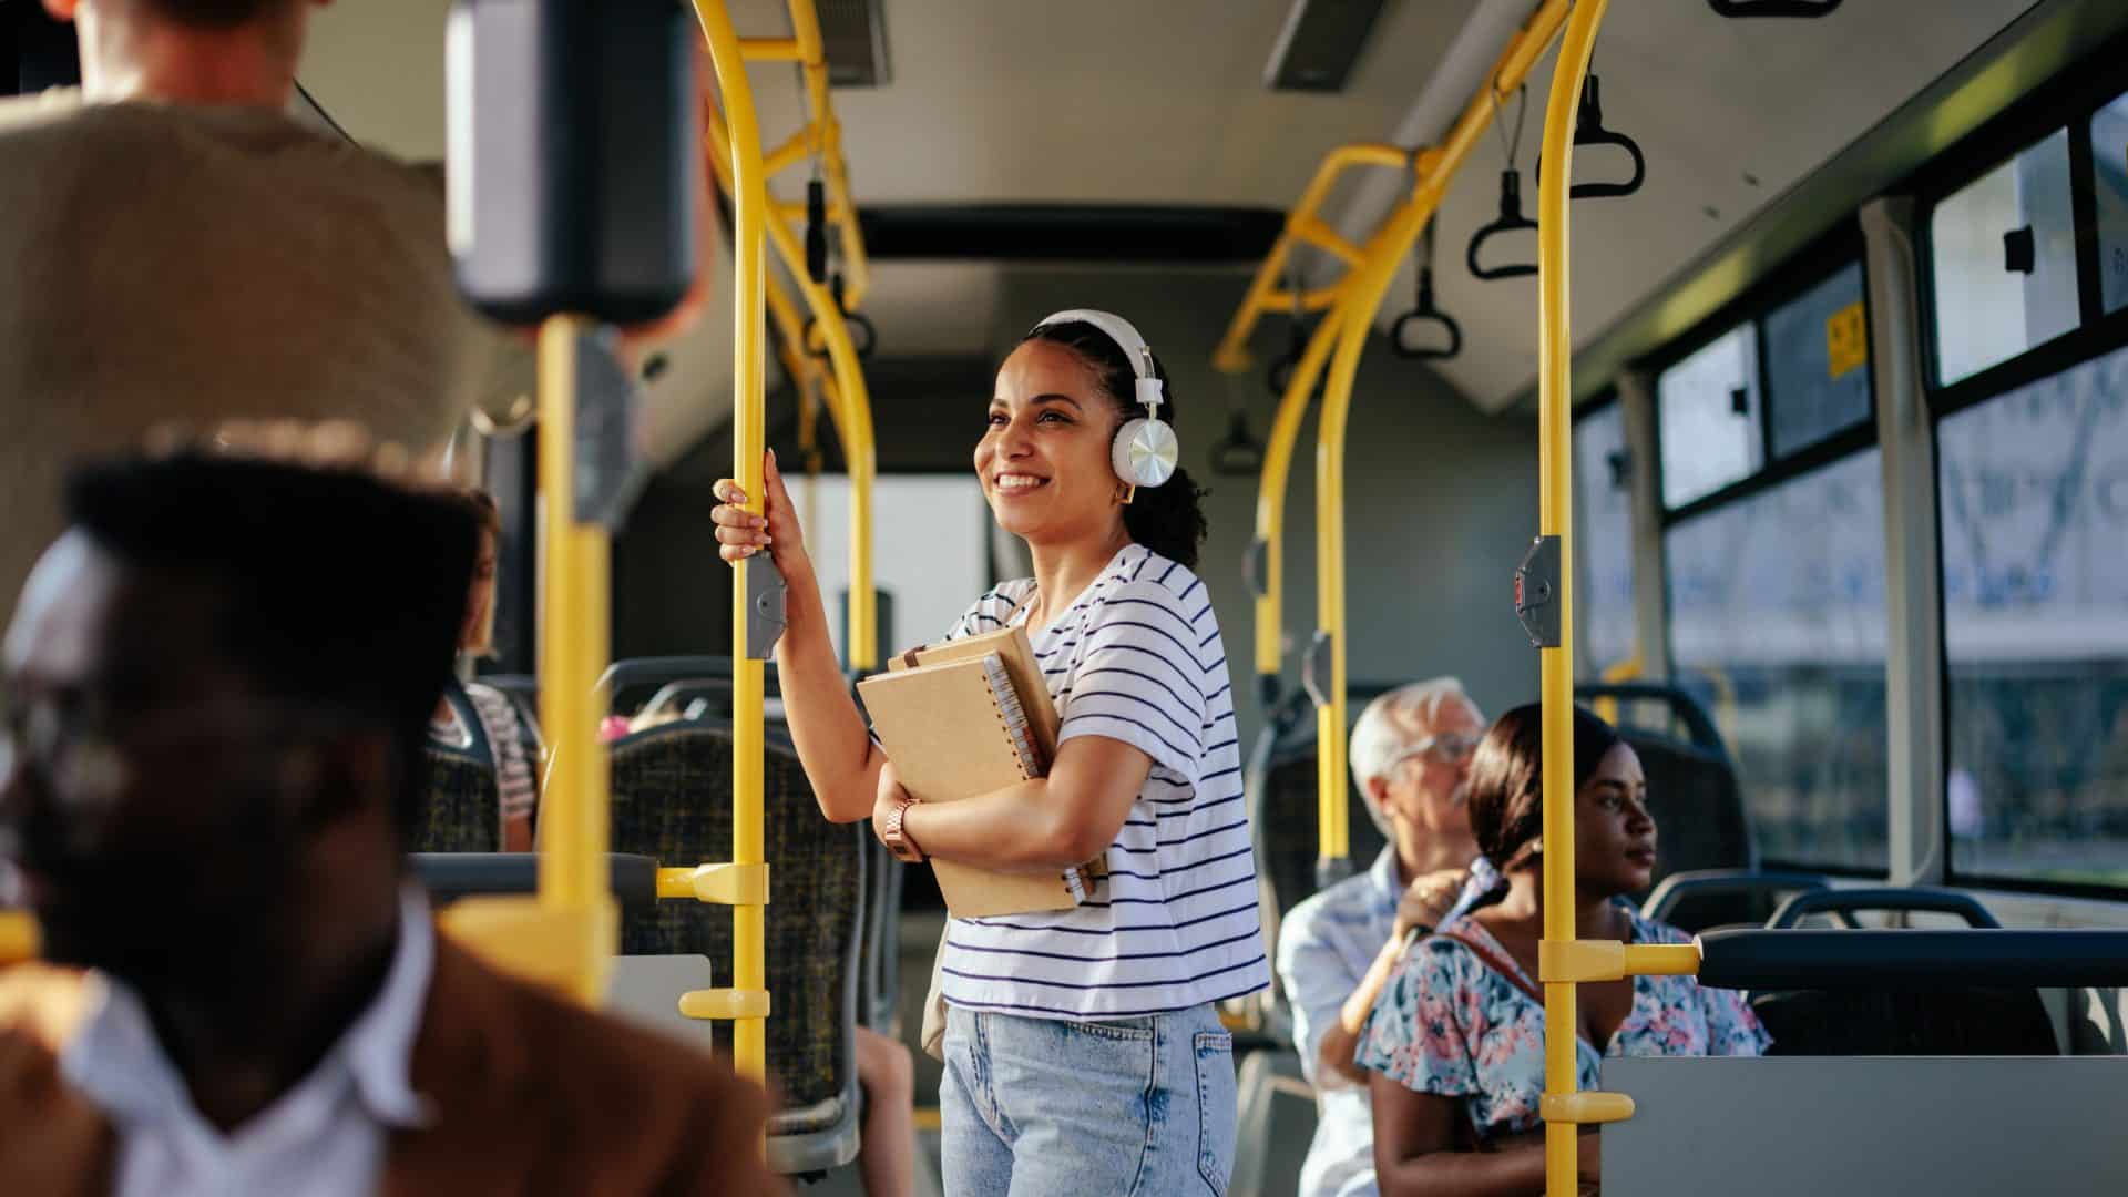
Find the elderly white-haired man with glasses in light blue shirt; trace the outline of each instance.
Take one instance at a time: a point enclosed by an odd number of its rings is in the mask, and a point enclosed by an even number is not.
[[[1409,935],[1498,880],[1462,803],[1481,735],[1485,716],[1453,677],[1392,690],[1351,728],[1351,777],[1390,843],[1366,873],[1296,905],[1279,929],[1279,982],[1319,1112],[1300,1197],[1377,1193],[1375,1122],[1353,1044]]]

